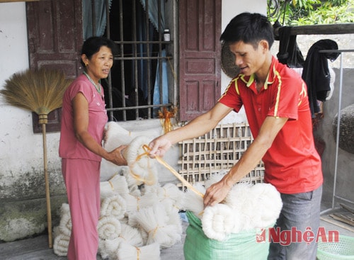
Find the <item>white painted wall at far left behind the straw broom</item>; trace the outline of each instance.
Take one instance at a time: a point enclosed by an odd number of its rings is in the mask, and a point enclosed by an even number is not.
[[[15,72],[28,69],[25,3],[0,4],[0,89]],[[0,97],[1,181],[14,181],[25,172],[42,166],[42,135],[33,134],[30,111],[6,105]],[[59,163],[59,135],[47,135],[48,161]],[[5,176],[4,176],[5,175]],[[4,178],[6,175],[9,178]]]

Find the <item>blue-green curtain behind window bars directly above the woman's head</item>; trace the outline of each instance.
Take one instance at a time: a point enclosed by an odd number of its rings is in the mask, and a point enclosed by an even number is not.
[[[112,0],[108,0],[109,7]],[[95,26],[96,32],[92,32],[92,5],[91,0],[82,1],[82,23],[84,30],[84,40],[91,36],[102,36],[105,33],[107,14],[105,12],[105,0],[95,0]]]

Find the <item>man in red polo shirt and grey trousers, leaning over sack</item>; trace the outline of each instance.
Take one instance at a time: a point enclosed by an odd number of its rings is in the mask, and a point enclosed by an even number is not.
[[[230,188],[262,159],[265,182],[273,184],[282,197],[276,227],[296,227],[302,234],[311,228],[316,236],[323,176],[314,147],[307,86],[271,54],[273,28],[265,16],[239,14],[220,40],[229,45],[240,74],[210,111],[153,140],[150,154],[164,155],[171,145],[209,132],[229,112],[244,106],[254,141],[229,173],[207,189],[205,206],[224,200]],[[316,246],[299,240],[288,246],[272,242],[268,259],[315,260]]]

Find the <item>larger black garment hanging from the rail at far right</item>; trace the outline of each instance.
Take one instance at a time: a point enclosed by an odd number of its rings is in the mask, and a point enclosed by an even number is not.
[[[320,50],[338,50],[338,45],[334,40],[319,40],[307,52],[302,79],[307,84],[312,118],[315,118],[316,113],[320,112],[318,101],[326,101],[331,93],[328,60],[333,62],[339,56],[339,52],[319,52]]]

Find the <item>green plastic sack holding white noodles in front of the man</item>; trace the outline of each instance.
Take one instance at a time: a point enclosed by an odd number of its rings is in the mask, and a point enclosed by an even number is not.
[[[266,260],[269,242],[257,242],[256,230],[229,234],[225,241],[208,238],[202,222],[193,213],[186,214],[189,226],[184,242],[185,260]]]

